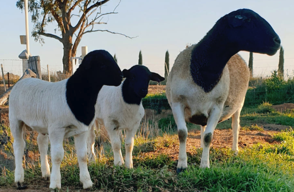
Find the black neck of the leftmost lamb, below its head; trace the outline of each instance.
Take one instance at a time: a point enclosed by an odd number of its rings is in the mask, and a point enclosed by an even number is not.
[[[75,118],[89,125],[95,116],[97,96],[103,84],[76,71],[66,84],[66,101]]]

